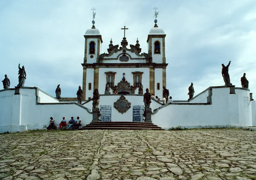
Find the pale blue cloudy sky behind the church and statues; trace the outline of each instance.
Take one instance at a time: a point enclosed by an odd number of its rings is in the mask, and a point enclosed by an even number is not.
[[[166,33],[166,87],[174,100],[187,100],[191,82],[194,96],[224,85],[221,64],[229,61],[231,83],[241,87],[246,73],[256,93],[256,0],[0,0],[0,80],[7,74],[15,87],[20,63],[25,86],[55,96],[61,84],[61,97],[76,97],[93,7],[101,53],[107,53],[111,38],[120,46],[124,25],[128,47],[138,38],[148,53],[158,8],[157,25]]]

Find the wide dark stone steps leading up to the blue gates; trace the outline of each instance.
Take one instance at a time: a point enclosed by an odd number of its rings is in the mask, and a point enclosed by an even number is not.
[[[153,123],[145,122],[93,122],[80,128],[80,130],[85,129],[164,130]]]

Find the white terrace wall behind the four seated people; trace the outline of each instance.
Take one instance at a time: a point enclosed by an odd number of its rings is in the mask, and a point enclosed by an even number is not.
[[[15,95],[15,90],[0,92],[0,133],[42,129],[49,125],[50,117],[55,119],[57,126],[63,116],[66,121],[69,121],[71,116],[74,119],[79,116],[82,125],[92,121],[92,114],[73,102],[36,103],[37,99],[55,101],[51,96],[47,98],[45,93],[38,93],[37,98],[37,91],[38,88],[20,88],[19,95]],[[41,98],[41,95],[44,97]]]

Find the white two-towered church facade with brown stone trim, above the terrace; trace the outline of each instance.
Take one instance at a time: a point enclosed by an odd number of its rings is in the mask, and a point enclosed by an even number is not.
[[[143,89],[148,88],[151,94],[162,98],[168,65],[165,57],[165,37],[163,29],[155,24],[148,34],[148,53],[141,53],[138,39],[135,45],[128,47],[125,33],[121,46],[113,45],[111,39],[108,53],[101,53],[102,35],[93,25],[84,34],[83,100],[92,98],[95,89],[104,94],[107,83],[112,94],[122,81],[128,85],[125,90],[117,93],[138,94],[142,84]]]

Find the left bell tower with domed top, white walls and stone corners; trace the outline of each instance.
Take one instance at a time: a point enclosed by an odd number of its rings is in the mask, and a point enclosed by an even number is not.
[[[84,63],[83,66],[83,100],[88,99],[93,94],[94,89],[99,88],[99,68],[92,66],[93,63],[99,63],[99,55],[102,45],[102,36],[99,29],[95,28],[96,10],[93,10],[93,26],[84,34]]]

